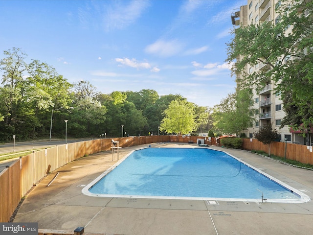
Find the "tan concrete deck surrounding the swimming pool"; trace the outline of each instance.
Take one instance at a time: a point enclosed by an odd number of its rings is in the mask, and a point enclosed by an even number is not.
[[[149,144],[122,148],[120,159]],[[164,143],[152,147],[198,147]],[[295,168],[247,151],[223,150],[313,198],[313,170]],[[82,189],[115,164],[112,152],[69,163],[42,180],[25,198],[14,222],[38,222],[40,230],[119,235],[308,235],[313,202],[269,203],[216,200],[100,198]],[[56,179],[50,184],[55,175]],[[261,195],[260,195],[261,198]]]

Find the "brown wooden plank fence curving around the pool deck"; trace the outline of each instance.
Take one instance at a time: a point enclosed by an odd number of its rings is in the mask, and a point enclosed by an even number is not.
[[[219,140],[216,138],[174,135],[114,138],[114,141],[119,141],[121,147],[129,147],[154,142],[198,143],[198,139],[204,139],[204,143],[208,145],[219,145]],[[49,172],[83,156],[111,150],[111,140],[97,139],[47,148],[23,156],[4,169],[0,173],[0,222],[10,220],[22,197]],[[255,139],[252,141],[244,139],[243,148],[268,151],[267,145]],[[284,151],[284,142],[271,144],[272,154],[284,157]],[[313,164],[312,148],[310,151],[305,145],[287,143],[286,158]]]

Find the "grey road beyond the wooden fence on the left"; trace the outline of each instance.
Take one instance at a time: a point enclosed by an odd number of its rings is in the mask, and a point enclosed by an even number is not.
[[[90,139],[88,139],[89,141]],[[73,143],[73,142],[80,142],[80,141],[87,141],[87,140],[67,140],[67,143]],[[31,151],[35,149],[41,149],[41,148],[49,148],[56,145],[63,145],[65,144],[64,140],[56,141],[30,141],[30,142],[16,142],[14,143],[5,143],[0,144],[0,154],[11,154],[13,152],[22,152],[22,151]],[[13,164],[15,160],[8,160],[0,162],[0,172],[5,169],[7,165]]]

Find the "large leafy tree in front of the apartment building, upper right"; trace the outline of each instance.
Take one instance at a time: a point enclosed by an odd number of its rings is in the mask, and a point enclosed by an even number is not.
[[[241,88],[259,90],[269,78],[272,79],[277,85],[276,92],[284,102],[291,101],[290,105],[296,107],[301,116],[299,121],[292,122],[294,115],[288,112],[294,109],[284,104],[287,114],[284,124],[288,123],[293,129],[300,125],[309,129],[313,123],[313,116],[306,115],[313,113],[313,1],[282,0],[278,3],[281,5],[277,4],[275,11],[280,16],[275,24],[265,22],[234,28],[234,37],[227,44],[226,61],[235,61],[233,72],[243,74],[244,79],[237,81]],[[290,28],[291,33],[286,33]],[[246,73],[247,68],[257,64],[264,69]]]

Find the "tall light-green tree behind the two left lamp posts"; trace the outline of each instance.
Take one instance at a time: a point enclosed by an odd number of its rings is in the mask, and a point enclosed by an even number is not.
[[[32,117],[27,120],[30,118],[28,115],[28,118],[24,119],[32,126],[32,138],[37,134],[47,136],[52,110],[66,112],[68,104],[72,103],[69,92],[72,85],[52,66],[39,60],[32,60],[27,72],[28,77],[22,89],[22,102]]]

